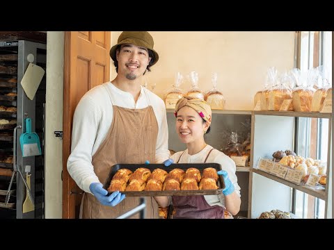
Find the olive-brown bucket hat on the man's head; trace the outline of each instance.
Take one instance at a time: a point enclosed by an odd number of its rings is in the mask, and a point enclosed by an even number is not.
[[[150,49],[154,53],[154,62],[152,65],[157,63],[159,60],[159,55],[157,51],[154,51],[154,41],[152,35],[148,33],[148,31],[123,31],[117,41],[117,44],[111,47],[110,49],[110,56],[114,62],[116,62],[116,48],[120,44],[134,44],[136,46],[145,47]]]

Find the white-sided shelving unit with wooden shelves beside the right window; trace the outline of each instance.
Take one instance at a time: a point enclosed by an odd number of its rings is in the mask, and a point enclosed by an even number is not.
[[[327,185],[311,188],[297,185],[283,178],[274,176],[257,169],[260,158],[272,158],[272,153],[278,150],[291,149],[296,151],[298,142],[298,117],[328,119],[328,146],[327,146]],[[313,197],[325,201],[325,217],[332,204],[328,203],[331,189],[331,113],[301,113],[301,112],[274,112],[255,111],[252,115],[252,140],[250,161],[250,201],[248,204],[248,218],[259,217],[260,213],[272,209],[290,211],[292,208],[292,189],[299,190]],[[303,146],[303,145],[301,145]],[[305,157],[305,156],[304,156]],[[333,178],[333,174],[332,174]],[[333,216],[333,215],[329,215]]]

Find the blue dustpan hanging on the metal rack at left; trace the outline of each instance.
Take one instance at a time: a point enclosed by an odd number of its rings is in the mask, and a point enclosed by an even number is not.
[[[40,138],[38,134],[31,133],[31,119],[26,118],[26,133],[19,136],[19,143],[21,144],[22,156],[40,156],[42,149],[40,149]]]

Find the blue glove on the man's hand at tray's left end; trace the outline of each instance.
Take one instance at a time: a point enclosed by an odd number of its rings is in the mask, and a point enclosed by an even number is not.
[[[116,206],[120,201],[125,199],[125,194],[115,191],[108,196],[108,191],[102,188],[102,183],[91,183],[89,190],[94,194],[96,199],[104,206]]]

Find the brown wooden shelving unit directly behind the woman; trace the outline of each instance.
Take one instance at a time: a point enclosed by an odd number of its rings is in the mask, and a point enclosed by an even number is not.
[[[221,150],[227,146],[228,136],[231,131],[238,133],[250,133],[253,111],[243,110],[212,110],[211,131],[205,135],[205,142],[215,149]],[[175,132],[174,110],[167,110],[168,122],[168,148],[175,151],[184,151],[186,145],[180,142]],[[251,161],[250,161],[251,163]],[[250,165],[251,166],[251,165]],[[241,188],[241,209],[236,216],[248,215],[248,190],[250,167],[237,167],[238,184]]]

